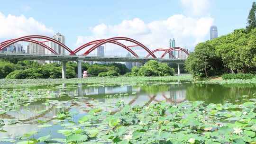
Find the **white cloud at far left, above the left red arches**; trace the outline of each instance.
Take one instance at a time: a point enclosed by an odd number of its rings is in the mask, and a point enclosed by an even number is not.
[[[26,35],[52,36],[53,34],[54,31],[51,28],[47,28],[34,18],[26,18],[23,15],[6,17],[0,12],[0,38],[17,38]]]

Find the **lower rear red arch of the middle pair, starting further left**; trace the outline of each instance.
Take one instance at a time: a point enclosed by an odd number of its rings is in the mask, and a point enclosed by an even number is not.
[[[85,47],[87,47],[87,46],[90,46],[90,45],[99,44],[99,43],[101,43],[101,42],[104,41],[104,40],[105,40],[105,39],[99,39],[99,40],[91,41],[91,42],[89,42],[89,43],[86,43],[86,44],[84,44],[84,45],[79,46],[79,47],[76,48],[73,52],[74,52],[74,54],[76,54],[76,53],[78,53],[79,51],[81,51],[83,48],[85,48]],[[124,45],[124,44],[122,44],[122,43],[120,43],[120,42],[117,42],[117,41],[110,41],[110,42],[108,42],[108,43],[112,43],[112,44],[119,45],[119,46],[125,48],[126,50],[128,50],[128,51],[129,51],[131,54],[133,54],[135,57],[138,57],[138,55],[137,55],[134,51],[132,51],[128,46],[126,46],[126,45]]]

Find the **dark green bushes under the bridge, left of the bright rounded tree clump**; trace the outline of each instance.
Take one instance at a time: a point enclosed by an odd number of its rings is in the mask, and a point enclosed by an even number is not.
[[[129,72],[122,63],[108,65],[82,63],[82,71],[88,71],[90,76],[98,76],[101,72],[109,72],[106,76],[119,76]],[[115,72],[113,72],[115,71]],[[101,75],[102,76],[102,75]],[[59,79],[62,77],[62,67],[58,63],[39,64],[35,61],[0,61],[0,79]],[[66,77],[77,77],[77,63],[66,64]]]

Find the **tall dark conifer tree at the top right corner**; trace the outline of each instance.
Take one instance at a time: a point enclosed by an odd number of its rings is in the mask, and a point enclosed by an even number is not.
[[[247,30],[251,31],[252,29],[256,28],[256,2],[253,2],[252,8],[250,10],[249,16],[247,18]]]

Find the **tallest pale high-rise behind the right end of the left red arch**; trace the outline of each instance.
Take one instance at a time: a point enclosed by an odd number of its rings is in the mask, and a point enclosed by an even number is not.
[[[56,33],[52,38],[65,45],[65,36],[61,35],[60,33]],[[61,45],[58,45],[51,41],[48,41],[45,44],[47,46],[51,47],[57,54],[59,54],[59,55],[65,54],[65,49]],[[49,51],[47,49],[45,51],[46,51],[45,54],[53,54],[51,51]],[[46,61],[46,63],[60,63],[60,62],[59,61]]]

